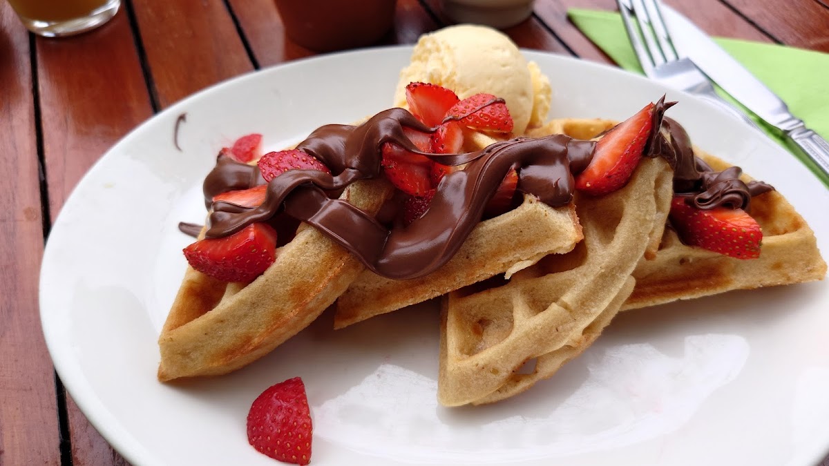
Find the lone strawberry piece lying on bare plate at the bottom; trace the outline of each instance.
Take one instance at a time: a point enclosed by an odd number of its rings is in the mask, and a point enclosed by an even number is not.
[[[248,442],[261,454],[285,463],[311,461],[313,425],[305,384],[288,379],[262,392],[248,412]]]

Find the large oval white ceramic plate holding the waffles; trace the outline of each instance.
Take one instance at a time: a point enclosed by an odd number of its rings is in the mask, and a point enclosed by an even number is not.
[[[156,340],[203,220],[218,148],[266,148],[390,105],[409,47],[322,56],[241,76],[158,114],[115,145],[66,202],[41,273],[41,317],[70,394],[136,465],[263,464],[250,402],[302,376],[312,464],[814,464],[829,447],[829,286],[737,292],[625,313],[583,356],[497,405],[435,399],[434,305],[342,331],[323,314],[268,357],[188,386],[156,380]],[[667,92],[702,148],[772,183],[829,251],[829,192],[791,155],[691,97],[623,71],[527,52],[550,116],[623,119]],[[187,113],[173,146],[177,116]]]

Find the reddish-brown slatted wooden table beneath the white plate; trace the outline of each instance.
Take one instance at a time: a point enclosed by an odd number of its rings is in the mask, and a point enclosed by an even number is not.
[[[829,52],[824,0],[667,3],[713,35]],[[568,22],[569,7],[616,5],[538,0],[535,14],[506,32],[521,47],[609,62]],[[398,0],[395,29],[381,43],[414,43],[449,23],[439,0]],[[75,183],[177,100],[312,55],[284,36],[272,0],[124,0],[104,27],[60,40],[28,33],[0,3],[0,464],[126,464],[65,393],[38,318],[43,245]]]

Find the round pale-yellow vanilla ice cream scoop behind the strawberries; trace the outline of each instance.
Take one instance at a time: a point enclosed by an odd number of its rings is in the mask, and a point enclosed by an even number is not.
[[[442,85],[461,99],[480,92],[502,97],[516,134],[544,123],[550,109],[550,81],[491,27],[460,24],[420,36],[410,65],[400,71],[395,105],[406,106],[405,87],[416,81]]]

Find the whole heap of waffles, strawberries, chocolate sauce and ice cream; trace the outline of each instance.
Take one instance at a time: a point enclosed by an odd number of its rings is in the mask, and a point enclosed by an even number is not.
[[[473,49],[499,65],[466,63]],[[621,123],[545,121],[549,80],[474,26],[422,37],[397,94],[294,148],[221,151],[161,381],[245,366],[332,303],[342,328],[443,296],[439,400],[489,403],[621,309],[826,274],[783,196],[694,147],[658,95]]]

